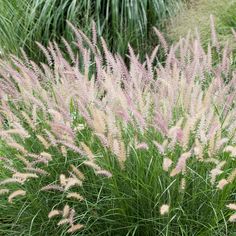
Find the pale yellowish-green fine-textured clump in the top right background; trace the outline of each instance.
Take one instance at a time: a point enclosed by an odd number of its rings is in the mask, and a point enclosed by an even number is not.
[[[172,19],[169,27],[170,38],[178,40],[179,37],[185,36],[189,31],[195,33],[197,28],[201,35],[201,41],[205,48],[211,38],[209,16],[215,18],[216,29],[219,41],[222,44],[229,43],[235,50],[236,44],[232,36],[231,29],[236,27],[235,19],[236,3],[228,0],[199,0],[193,1],[189,8],[181,11]]]

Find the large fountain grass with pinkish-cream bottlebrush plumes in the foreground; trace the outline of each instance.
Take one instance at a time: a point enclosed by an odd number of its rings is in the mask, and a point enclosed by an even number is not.
[[[68,60],[51,43],[47,65],[0,61],[1,234],[235,233],[230,49],[212,66],[214,47],[155,30],[164,66],[129,48],[127,67],[71,27]]]

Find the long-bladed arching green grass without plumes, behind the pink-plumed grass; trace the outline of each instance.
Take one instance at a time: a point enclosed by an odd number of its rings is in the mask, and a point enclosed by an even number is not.
[[[66,20],[89,34],[94,20],[112,51],[124,55],[130,43],[145,55],[152,47],[151,27],[163,29],[181,6],[180,0],[2,0],[0,48],[19,55],[22,47],[36,60],[40,51],[35,41],[47,45],[61,36],[71,40]]]

